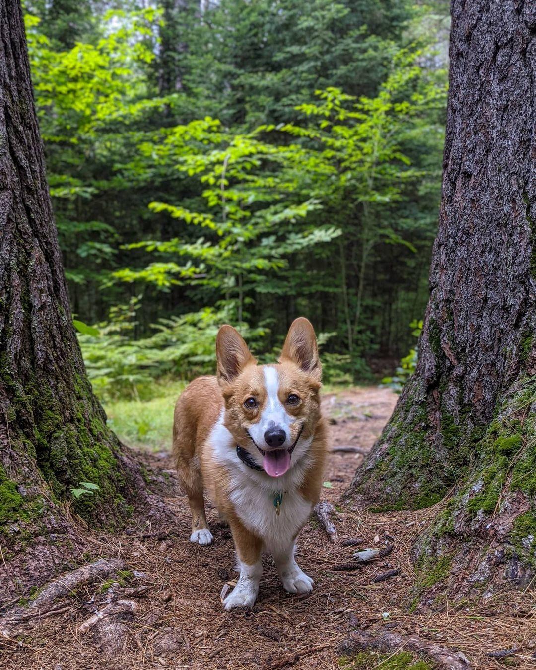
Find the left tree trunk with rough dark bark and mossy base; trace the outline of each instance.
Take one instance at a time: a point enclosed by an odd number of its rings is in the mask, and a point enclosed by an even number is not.
[[[72,509],[118,525],[159,510],[106,426],[76,340],[18,0],[0,0],[0,606],[80,561]]]

